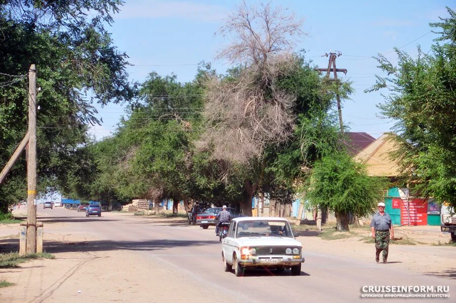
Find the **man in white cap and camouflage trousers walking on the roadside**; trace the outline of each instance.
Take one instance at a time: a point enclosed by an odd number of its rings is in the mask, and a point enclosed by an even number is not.
[[[380,252],[383,250],[383,262],[386,263],[388,259],[390,236],[391,239],[394,238],[394,231],[391,217],[385,212],[385,203],[378,203],[378,212],[372,216],[370,227],[372,230],[372,238],[375,239],[375,261],[377,263],[380,261]]]

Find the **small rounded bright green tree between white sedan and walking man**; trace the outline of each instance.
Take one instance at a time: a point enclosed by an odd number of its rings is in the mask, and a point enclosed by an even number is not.
[[[335,213],[337,230],[341,232],[349,230],[347,214],[371,214],[385,188],[384,179],[368,176],[363,165],[341,152],[316,162],[302,190],[312,205]]]

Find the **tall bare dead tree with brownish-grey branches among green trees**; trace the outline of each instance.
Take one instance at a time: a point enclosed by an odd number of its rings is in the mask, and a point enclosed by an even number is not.
[[[291,50],[304,33],[302,20],[284,12],[270,4],[257,8],[244,2],[218,30],[231,40],[218,58],[246,67],[236,80],[213,76],[206,81],[207,131],[199,146],[211,147],[216,159],[247,163],[293,131],[296,96],[279,89],[277,80],[296,67]]]

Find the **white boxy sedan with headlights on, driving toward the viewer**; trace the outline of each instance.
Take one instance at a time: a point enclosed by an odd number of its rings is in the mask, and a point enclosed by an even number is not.
[[[222,260],[225,272],[234,267],[238,277],[249,268],[291,269],[299,276],[304,262],[302,244],[294,239],[290,223],[275,217],[233,219],[222,242]]]

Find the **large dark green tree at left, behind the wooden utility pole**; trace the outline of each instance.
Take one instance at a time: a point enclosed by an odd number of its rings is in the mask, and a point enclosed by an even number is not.
[[[27,132],[25,74],[37,67],[37,170],[39,191],[64,186],[68,164],[87,144],[87,123],[97,123],[93,103],[124,102],[135,93],[120,53],[105,26],[119,0],[3,1],[0,3],[0,163]],[[90,12],[90,14],[88,14]],[[16,76],[21,77],[16,77]],[[21,158],[0,186],[0,211],[26,197]]]

